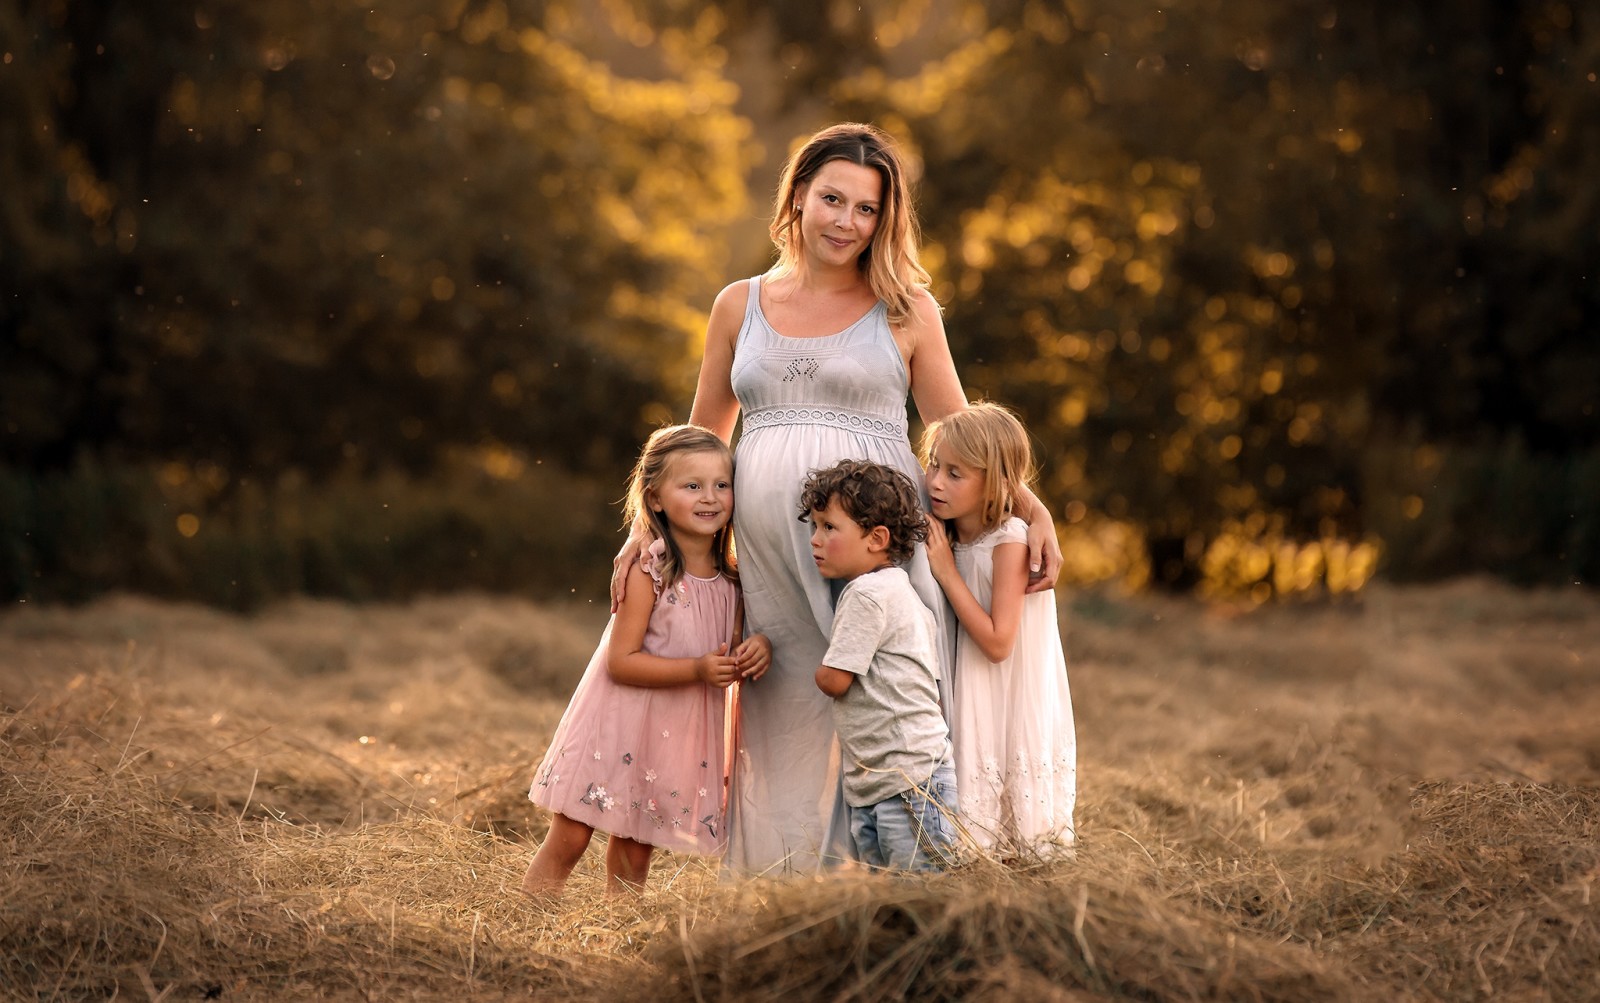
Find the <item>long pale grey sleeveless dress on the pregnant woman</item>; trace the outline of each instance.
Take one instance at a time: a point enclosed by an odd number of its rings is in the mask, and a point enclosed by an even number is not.
[[[733,523],[747,629],[771,638],[773,665],[741,686],[725,867],[814,873],[854,859],[854,849],[832,699],[814,681],[842,582],[824,579],[811,560],[800,485],[842,459],[896,467],[918,488],[923,478],[907,440],[910,379],[885,306],[837,334],[786,338],[762,314],[760,282],[749,282],[733,355],[742,416]],[[954,621],[920,545],[907,571],[946,637],[941,694],[949,718]]]

